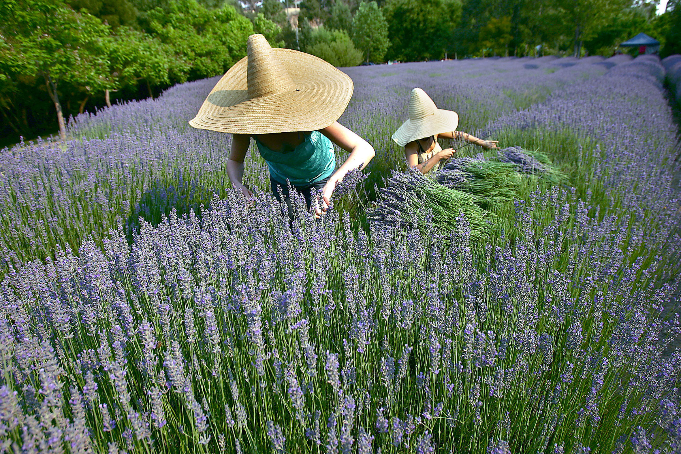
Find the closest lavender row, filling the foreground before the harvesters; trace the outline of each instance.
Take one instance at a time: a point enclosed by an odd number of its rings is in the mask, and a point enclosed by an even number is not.
[[[673,289],[654,288],[663,260],[631,263],[647,243],[626,222],[537,192],[513,246],[475,247],[462,219],[445,247],[334,214],[289,227],[258,197],[9,274],[3,447],[681,449]]]

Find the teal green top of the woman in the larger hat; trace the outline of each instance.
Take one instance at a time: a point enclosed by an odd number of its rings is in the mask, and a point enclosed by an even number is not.
[[[294,186],[308,186],[330,177],[336,169],[336,155],[331,141],[319,131],[304,133],[305,140],[296,148],[284,148],[281,152],[270,150],[255,137],[260,156],[267,161],[274,180]]]

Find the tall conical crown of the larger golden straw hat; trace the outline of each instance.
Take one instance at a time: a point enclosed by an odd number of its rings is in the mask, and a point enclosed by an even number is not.
[[[263,35],[249,36],[247,54],[248,99],[279,95],[294,89],[294,81]]]

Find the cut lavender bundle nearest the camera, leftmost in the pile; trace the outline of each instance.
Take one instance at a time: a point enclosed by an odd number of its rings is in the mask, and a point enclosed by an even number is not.
[[[381,225],[415,225],[426,231],[430,213],[430,223],[439,233],[455,229],[460,214],[470,224],[471,238],[482,240],[490,231],[492,214],[477,206],[473,196],[443,187],[419,172],[393,172],[366,217]]]

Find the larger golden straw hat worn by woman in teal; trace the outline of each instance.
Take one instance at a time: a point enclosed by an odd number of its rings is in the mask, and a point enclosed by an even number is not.
[[[247,56],[215,84],[189,125],[237,134],[315,131],[338,120],[352,91],[351,78],[330,63],[251,35]]]

